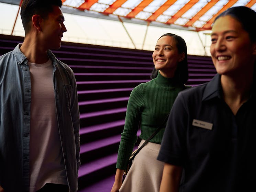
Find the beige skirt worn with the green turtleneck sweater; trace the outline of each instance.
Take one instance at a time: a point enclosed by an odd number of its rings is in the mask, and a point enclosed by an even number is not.
[[[142,140],[140,147],[145,140]],[[156,158],[160,144],[148,142],[135,156],[120,192],[159,192],[164,162]]]

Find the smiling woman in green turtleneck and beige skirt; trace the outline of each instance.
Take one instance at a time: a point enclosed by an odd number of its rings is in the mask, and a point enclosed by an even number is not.
[[[188,88],[187,46],[178,35],[162,35],[153,52],[152,80],[135,87],[130,95],[124,131],[111,192],[158,192],[164,163],[156,160],[165,126],[136,155],[123,184],[124,169],[136,143],[138,125],[142,139],[139,147],[163,123],[178,93]]]

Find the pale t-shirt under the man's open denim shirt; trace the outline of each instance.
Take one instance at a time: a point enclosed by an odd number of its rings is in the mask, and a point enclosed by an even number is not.
[[[28,63],[31,74],[30,192],[67,184],[57,123],[53,65]]]

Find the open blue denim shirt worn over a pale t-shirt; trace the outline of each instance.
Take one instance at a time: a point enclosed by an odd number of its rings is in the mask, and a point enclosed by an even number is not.
[[[31,77],[21,44],[0,57],[0,185],[29,191]],[[70,191],[77,191],[80,118],[73,71],[48,50],[53,62],[58,128]]]

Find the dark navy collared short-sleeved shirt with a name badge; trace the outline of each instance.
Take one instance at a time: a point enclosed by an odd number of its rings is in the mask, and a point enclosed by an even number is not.
[[[182,166],[182,192],[254,189],[255,90],[234,115],[222,97],[220,75],[182,91],[167,122],[158,160]]]

